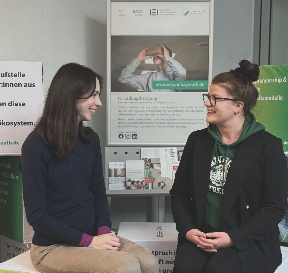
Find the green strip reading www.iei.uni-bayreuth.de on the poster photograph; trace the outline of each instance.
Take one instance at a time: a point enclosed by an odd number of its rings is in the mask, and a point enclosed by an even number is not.
[[[208,81],[153,81],[153,89],[208,89]]]

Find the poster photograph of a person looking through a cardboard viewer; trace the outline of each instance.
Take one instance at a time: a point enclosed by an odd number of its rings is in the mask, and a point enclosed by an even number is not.
[[[111,92],[208,89],[209,35],[111,36]]]

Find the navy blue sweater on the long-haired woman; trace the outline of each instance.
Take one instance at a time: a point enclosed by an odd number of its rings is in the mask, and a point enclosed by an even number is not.
[[[28,223],[38,246],[78,246],[83,233],[97,235],[97,228],[111,228],[102,170],[100,140],[78,138],[75,152],[60,158],[52,154],[35,132],[22,146],[23,200]]]

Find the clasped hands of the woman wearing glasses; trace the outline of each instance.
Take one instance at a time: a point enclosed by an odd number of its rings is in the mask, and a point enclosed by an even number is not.
[[[196,244],[197,247],[201,248],[206,252],[217,252],[217,250],[233,247],[234,243],[226,232],[210,232],[204,233],[198,229],[189,230],[186,235],[186,239]],[[209,239],[209,238],[215,239]]]

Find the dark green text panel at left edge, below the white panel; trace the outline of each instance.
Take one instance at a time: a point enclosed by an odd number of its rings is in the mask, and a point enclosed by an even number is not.
[[[20,157],[0,157],[0,234],[23,243],[22,175]]]

